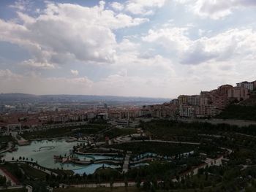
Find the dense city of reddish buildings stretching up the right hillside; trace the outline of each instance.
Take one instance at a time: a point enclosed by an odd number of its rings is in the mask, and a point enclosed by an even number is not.
[[[1,128],[20,126],[24,128],[39,128],[44,125],[58,123],[80,122],[94,118],[117,120],[120,125],[128,125],[135,118],[211,118],[219,115],[231,104],[244,104],[256,96],[256,81],[239,82],[233,85],[221,85],[212,91],[201,91],[199,95],[181,95],[163,104],[148,104],[129,101],[129,104],[113,104],[108,106],[104,101],[94,102],[54,102],[48,103],[17,103],[16,105],[1,104]],[[14,94],[15,95],[15,94]],[[18,99],[19,96],[16,96]],[[161,99],[158,99],[161,100]],[[165,100],[165,99],[162,99]],[[151,101],[151,102],[156,102]],[[10,103],[10,101],[5,101]]]

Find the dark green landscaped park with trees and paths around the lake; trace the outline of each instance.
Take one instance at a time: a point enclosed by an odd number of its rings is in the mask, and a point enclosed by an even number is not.
[[[146,138],[157,139],[131,140],[113,145],[101,145],[110,148],[111,153],[121,150],[119,157],[130,155],[128,172],[122,173],[122,167],[111,169],[100,166],[92,174],[73,174],[64,169],[49,169],[58,175],[43,172],[44,168],[20,162],[5,162],[1,166],[7,169],[20,183],[43,188],[50,185],[59,188],[60,183],[79,185],[89,183],[136,183],[131,188],[86,188],[86,191],[247,191],[255,189],[256,179],[256,131],[255,126],[238,127],[226,124],[181,123],[171,120],[152,120],[141,123]],[[63,128],[62,128],[63,129]],[[63,132],[61,132],[63,131]],[[31,138],[61,136],[95,135],[98,140],[129,136],[136,129],[113,128],[106,124],[90,123],[84,128],[49,129],[29,133]],[[132,138],[132,137],[130,137]],[[189,143],[186,143],[189,142]],[[191,143],[195,142],[195,143]],[[50,145],[50,144],[49,144]],[[80,146],[80,145],[79,145]],[[91,150],[91,153],[97,148]],[[215,159],[222,158],[220,164],[214,165]],[[21,158],[22,160],[23,158]],[[206,164],[206,161],[211,164]],[[20,160],[20,161],[21,161]],[[26,158],[25,158],[26,160]],[[144,161],[145,160],[145,161]],[[139,162],[139,166],[135,166]],[[198,168],[197,174],[192,170]],[[186,174],[187,173],[187,174]],[[175,182],[176,180],[176,182]],[[41,186],[41,187],[40,187]],[[82,191],[79,188],[55,189],[54,191]]]

